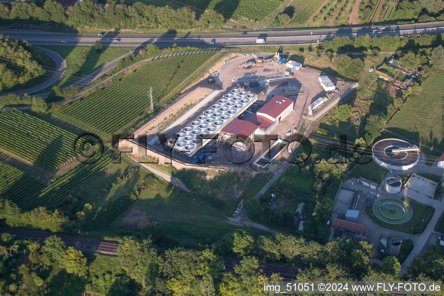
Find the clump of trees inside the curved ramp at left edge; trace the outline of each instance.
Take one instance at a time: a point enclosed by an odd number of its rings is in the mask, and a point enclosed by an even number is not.
[[[24,85],[45,74],[51,58],[21,39],[0,34],[0,91]]]

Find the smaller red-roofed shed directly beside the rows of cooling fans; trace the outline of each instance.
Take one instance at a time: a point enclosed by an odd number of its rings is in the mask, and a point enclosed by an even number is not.
[[[219,141],[233,144],[234,149],[246,150],[253,142],[258,126],[252,122],[233,119],[219,133]]]

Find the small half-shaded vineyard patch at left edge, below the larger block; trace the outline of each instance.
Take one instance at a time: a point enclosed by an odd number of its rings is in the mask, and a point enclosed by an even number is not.
[[[14,166],[0,162],[0,196],[18,202],[38,193],[45,184]]]

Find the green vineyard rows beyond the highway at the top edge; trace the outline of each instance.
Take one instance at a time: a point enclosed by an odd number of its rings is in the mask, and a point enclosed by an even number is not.
[[[180,2],[202,10],[214,9],[226,19],[246,19],[256,22],[274,12],[283,0],[181,0]]]

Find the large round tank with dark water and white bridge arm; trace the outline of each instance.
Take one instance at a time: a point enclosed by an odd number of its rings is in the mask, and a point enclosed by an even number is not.
[[[372,156],[378,165],[386,169],[408,170],[418,163],[419,152],[408,151],[406,153],[394,153],[392,151],[412,146],[409,142],[400,139],[383,139],[373,145]]]

